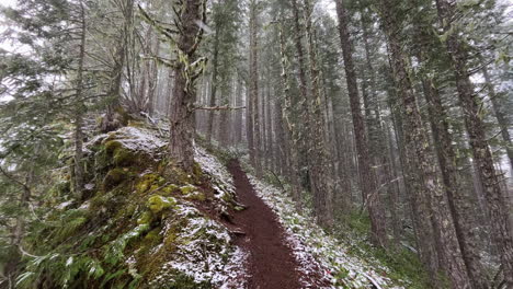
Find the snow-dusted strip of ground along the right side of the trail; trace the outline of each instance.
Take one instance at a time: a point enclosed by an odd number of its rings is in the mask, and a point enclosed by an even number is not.
[[[330,278],[333,288],[381,288],[394,287],[391,280],[383,274],[388,269],[350,256],[345,248],[334,238],[327,235],[312,218],[296,212],[294,201],[276,187],[248,175],[256,194],[270,206],[278,217],[278,221],[286,229],[287,243],[293,248],[299,268],[305,275],[320,267],[328,268],[326,278]],[[380,271],[381,274],[379,274]],[[301,280],[305,281],[305,280]],[[308,285],[305,285],[308,286]]]

